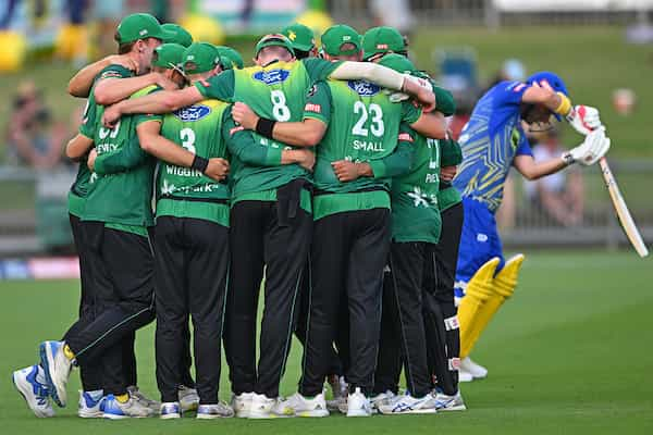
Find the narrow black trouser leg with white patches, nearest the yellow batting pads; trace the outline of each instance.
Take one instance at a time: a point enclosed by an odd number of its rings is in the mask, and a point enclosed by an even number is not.
[[[443,319],[443,324],[429,331],[430,343],[440,343],[435,351],[430,351],[431,373],[438,378],[438,386],[447,395],[458,390],[458,366],[460,362],[460,330],[454,303],[454,282],[458,261],[458,247],[463,231],[463,203],[457,203],[442,212],[442,235],[433,248],[436,265],[432,304]]]

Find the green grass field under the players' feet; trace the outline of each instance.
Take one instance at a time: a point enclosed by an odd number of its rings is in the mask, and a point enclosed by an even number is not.
[[[36,345],[73,320],[77,282],[1,282],[0,424],[4,434],[650,434],[653,433],[652,260],[632,252],[527,256],[516,296],[480,340],[475,357],[490,377],[464,384],[469,410],[423,417],[281,421],[193,419],[83,421],[69,408],[37,420],[14,390],[11,372],[36,360]],[[153,328],[138,334],[139,383],[155,396]],[[282,394],[294,391],[293,347]],[[226,371],[222,396],[227,399]]]

